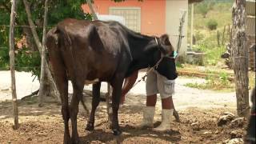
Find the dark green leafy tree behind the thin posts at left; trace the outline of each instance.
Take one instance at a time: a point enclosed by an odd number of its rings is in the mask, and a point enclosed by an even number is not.
[[[112,1],[123,2],[125,0]],[[18,1],[15,27],[15,42],[23,42],[22,49],[15,45],[16,70],[32,72],[38,78],[40,78],[39,52],[42,49],[44,2],[43,0]],[[91,19],[90,14],[83,13],[81,7],[83,3],[86,3],[86,0],[49,0],[48,30],[65,18]],[[9,70],[10,6],[10,0],[0,0],[0,70]],[[50,83],[49,75],[46,78]],[[48,95],[55,95],[54,90],[51,90],[53,86],[48,87]]]

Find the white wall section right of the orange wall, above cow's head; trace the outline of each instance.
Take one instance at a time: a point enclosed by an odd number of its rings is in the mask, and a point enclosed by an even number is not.
[[[170,36],[170,42],[177,49],[179,18],[182,17],[181,10],[186,10],[186,19],[183,26],[182,47],[179,54],[186,56],[187,45],[187,21],[188,21],[188,0],[166,0],[166,33]]]

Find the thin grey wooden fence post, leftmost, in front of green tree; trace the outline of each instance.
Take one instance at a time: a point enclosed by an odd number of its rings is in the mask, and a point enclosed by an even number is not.
[[[11,13],[10,13],[10,75],[11,75],[11,94],[13,101],[13,110],[14,110],[14,130],[18,129],[18,102],[17,102],[17,94],[16,94],[16,84],[15,84],[15,68],[14,68],[14,24],[15,24],[15,16],[16,16],[16,0],[10,1],[12,3]]]

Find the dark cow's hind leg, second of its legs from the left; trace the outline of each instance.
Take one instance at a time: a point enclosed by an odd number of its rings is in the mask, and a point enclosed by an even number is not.
[[[73,96],[70,103],[70,119],[72,125],[72,143],[79,143],[77,117],[78,117],[78,105],[82,98],[83,82],[78,79],[73,84]]]

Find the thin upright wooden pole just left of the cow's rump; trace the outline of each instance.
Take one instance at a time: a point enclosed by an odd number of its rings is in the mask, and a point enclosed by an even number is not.
[[[47,13],[48,13],[48,0],[45,0],[45,14],[43,20],[42,30],[42,53],[41,53],[41,74],[40,74],[40,88],[38,94],[38,106],[41,107],[43,103],[43,97],[45,96],[46,89],[46,26],[47,26]]]

